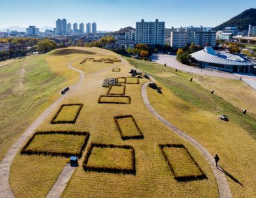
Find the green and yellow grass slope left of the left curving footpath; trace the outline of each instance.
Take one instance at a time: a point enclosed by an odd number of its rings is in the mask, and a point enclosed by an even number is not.
[[[24,57],[0,67],[0,161],[20,134],[60,96],[61,89],[79,80],[79,73],[67,65],[84,54],[52,54],[54,51]]]

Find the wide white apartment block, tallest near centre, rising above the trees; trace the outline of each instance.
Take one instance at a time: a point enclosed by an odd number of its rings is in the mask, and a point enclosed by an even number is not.
[[[165,22],[136,22],[136,42],[149,45],[164,45]]]

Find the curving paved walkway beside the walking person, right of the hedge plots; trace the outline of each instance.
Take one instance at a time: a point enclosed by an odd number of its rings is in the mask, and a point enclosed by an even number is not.
[[[153,80],[153,79],[151,78],[151,80]],[[213,156],[211,155],[211,153],[209,153],[209,151],[207,151],[207,149],[205,149],[204,146],[202,146],[195,139],[191,138],[189,135],[182,132],[181,130],[179,130],[179,128],[176,128],[174,125],[172,125],[172,123],[168,122],[166,119],[164,119],[162,116],[160,116],[156,112],[156,110],[152,107],[152,105],[150,105],[150,102],[149,102],[148,96],[147,96],[147,86],[149,83],[150,82],[143,84],[143,86],[141,88],[141,95],[142,95],[143,102],[145,103],[145,106],[147,107],[147,109],[157,119],[159,119],[162,123],[164,123],[164,125],[166,125],[167,128],[169,128],[173,132],[177,133],[180,137],[186,139],[186,141],[188,141],[190,144],[195,146],[195,148],[197,148],[200,151],[200,153],[202,153],[205,160],[207,160],[207,162],[211,166],[214,177],[216,178],[217,185],[218,185],[218,191],[219,191],[219,197],[220,198],[231,198],[232,194],[230,191],[230,187],[228,185],[228,181],[225,177],[225,174],[216,168],[215,160],[214,160]]]

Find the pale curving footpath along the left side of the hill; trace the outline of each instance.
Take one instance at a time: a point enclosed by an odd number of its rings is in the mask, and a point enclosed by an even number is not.
[[[80,79],[74,85],[70,87],[70,91],[65,95],[61,95],[51,106],[49,106],[36,121],[29,126],[29,128],[22,134],[22,136],[12,145],[9,149],[8,153],[4,156],[3,160],[0,163],[0,197],[1,198],[13,198],[15,197],[9,183],[10,169],[15,158],[15,155],[18,153],[21,146],[29,139],[29,136],[35,131],[35,129],[44,121],[47,116],[51,113],[51,111],[60,104],[60,102],[66,98],[72,91],[77,89],[77,87],[84,80],[84,73],[81,70],[77,70],[76,68],[71,66],[72,63],[68,65],[68,68],[72,70],[76,70],[80,73]]]

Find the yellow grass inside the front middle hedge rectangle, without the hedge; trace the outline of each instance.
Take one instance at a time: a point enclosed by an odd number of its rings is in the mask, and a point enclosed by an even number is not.
[[[86,165],[100,168],[132,169],[131,149],[93,147]]]

